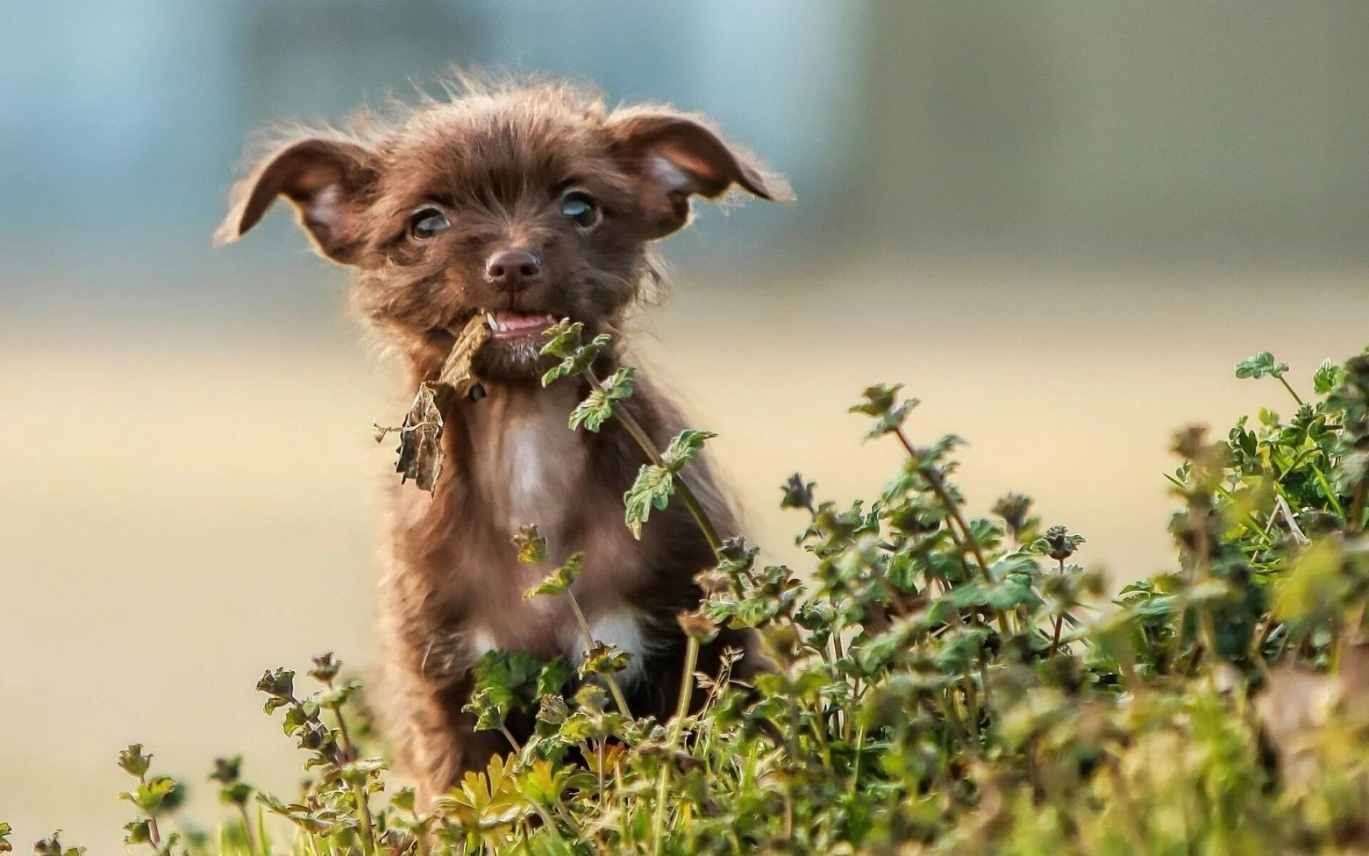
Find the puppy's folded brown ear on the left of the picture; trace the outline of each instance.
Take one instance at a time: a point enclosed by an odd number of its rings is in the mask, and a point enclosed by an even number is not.
[[[361,210],[375,185],[375,160],[356,142],[309,137],[264,158],[252,177],[233,189],[227,219],[214,233],[215,244],[238,240],[257,225],[277,196],[300,215],[300,226],[318,251],[344,264],[361,249]]]

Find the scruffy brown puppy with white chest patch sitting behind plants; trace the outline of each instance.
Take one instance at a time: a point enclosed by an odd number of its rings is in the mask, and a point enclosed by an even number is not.
[[[574,590],[593,635],[632,655],[620,674],[632,712],[664,720],[674,709],[683,666],[675,618],[698,604],[693,578],[715,563],[712,551],[680,503],[632,538],[623,492],[643,453],[615,420],[597,434],[567,429],[586,389],[541,388],[541,331],[571,318],[587,337],[620,333],[657,279],[649,244],[686,225],[693,194],[789,190],[700,116],[608,111],[568,85],[465,82],[359,127],[301,133],[264,158],[237,186],[218,238],[245,233],[277,196],[290,200],[319,252],[357,270],[356,305],[407,360],[408,396],[438,373],[474,312],[493,312],[496,331],[475,357],[487,397],[444,414],[448,457],[434,496],[392,490],[378,698],[401,766],[431,796],[502,748],[461,712],[482,653],[575,662],[585,648],[567,599],[522,597],[546,572],[516,562],[509,540],[524,523],[541,527],[553,562],[586,553]],[[601,371],[613,368],[620,341]],[[624,404],[658,448],[683,427],[641,375]],[[690,464],[686,478],[730,533],[706,464]],[[724,631],[700,668],[745,645]]]

